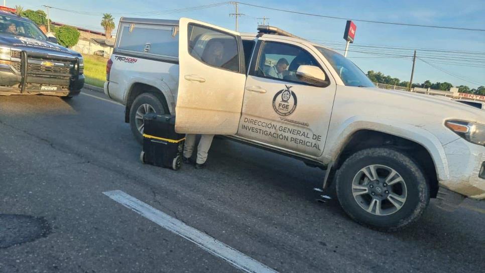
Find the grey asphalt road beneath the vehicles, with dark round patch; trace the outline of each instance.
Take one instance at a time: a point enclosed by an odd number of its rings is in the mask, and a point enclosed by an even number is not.
[[[331,191],[316,201],[319,169],[225,139],[205,170],[143,165],[123,120],[123,106],[91,91],[0,97],[0,272],[238,272],[112,190],[280,272],[483,270],[484,202],[455,212],[431,202],[408,229],[381,233],[350,220]]]

